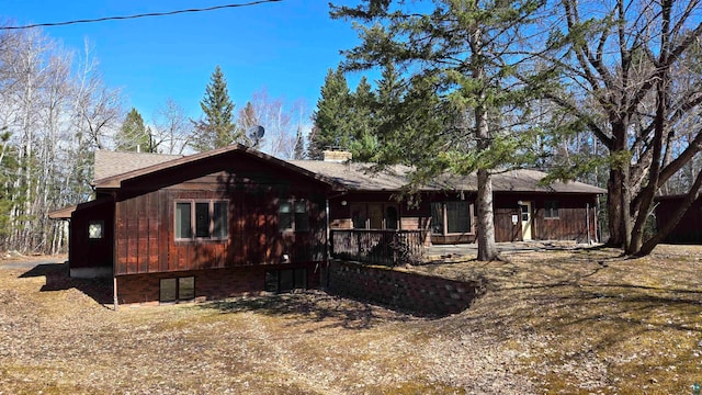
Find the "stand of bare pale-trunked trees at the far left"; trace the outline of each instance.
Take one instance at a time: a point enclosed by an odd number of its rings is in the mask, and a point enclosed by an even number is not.
[[[39,30],[2,32],[0,49],[0,248],[56,252],[65,228],[47,213],[90,195],[91,150],[109,137],[118,94],[88,57],[72,75],[72,53]]]

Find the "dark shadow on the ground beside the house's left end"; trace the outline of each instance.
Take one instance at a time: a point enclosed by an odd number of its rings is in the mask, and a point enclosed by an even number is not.
[[[55,292],[76,289],[92,297],[100,304],[112,303],[111,279],[75,279],[68,275],[68,262],[39,263],[22,273],[20,279],[46,278],[46,284],[41,292]]]

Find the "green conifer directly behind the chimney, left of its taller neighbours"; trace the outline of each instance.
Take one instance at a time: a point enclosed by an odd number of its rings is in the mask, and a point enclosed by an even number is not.
[[[313,114],[315,128],[309,135],[308,157],[321,159],[321,151],[330,148],[349,149],[352,131],[349,125],[351,93],[341,68],[329,69],[321,87],[321,98]]]

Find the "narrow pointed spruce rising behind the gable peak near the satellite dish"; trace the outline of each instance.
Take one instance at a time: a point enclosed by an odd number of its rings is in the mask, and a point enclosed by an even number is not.
[[[205,151],[245,140],[244,132],[234,123],[234,103],[219,66],[212,74],[200,108],[204,119],[193,121],[196,134],[192,147],[195,150]]]

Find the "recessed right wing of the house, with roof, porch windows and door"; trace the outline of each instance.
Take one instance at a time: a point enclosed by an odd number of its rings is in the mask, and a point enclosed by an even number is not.
[[[424,229],[431,244],[476,240],[475,176],[443,179],[406,200],[407,167],[377,173],[350,161],[290,162],[344,185],[330,200],[331,228]],[[542,185],[545,177],[523,169],[492,176],[496,240],[597,241],[597,196],[607,191],[582,182]]]

